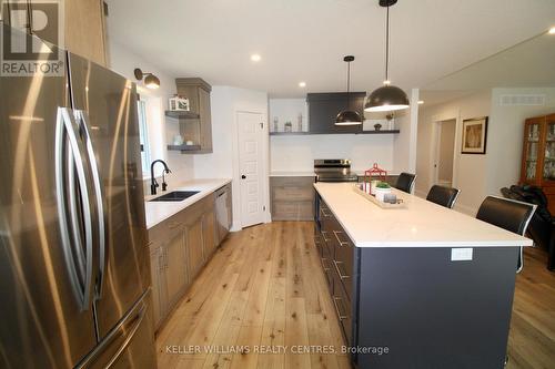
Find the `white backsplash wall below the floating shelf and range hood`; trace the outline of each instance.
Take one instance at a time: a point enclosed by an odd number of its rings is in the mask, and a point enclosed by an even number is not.
[[[377,163],[393,170],[393,135],[315,134],[271,136],[272,172],[311,172],[315,158],[351,158],[352,170],[364,172]]]

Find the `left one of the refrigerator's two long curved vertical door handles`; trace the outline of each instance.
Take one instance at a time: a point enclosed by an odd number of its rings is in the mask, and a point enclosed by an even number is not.
[[[84,311],[90,307],[92,285],[92,216],[83,165],[83,147],[75,132],[77,126],[71,110],[68,107],[58,107],[57,115],[54,167],[58,217],[70,284],[81,311]],[[65,170],[64,164],[67,165]],[[75,172],[82,205],[81,214],[78,214],[77,208]],[[68,181],[65,175],[68,175]],[[67,183],[69,184],[69,188]],[[69,204],[65,201],[67,197],[69,197]],[[81,230],[78,223],[80,217],[82,217],[84,228],[84,255],[81,244],[77,244],[81,242]],[[68,227],[68,224],[70,224],[71,229]],[[73,238],[73,245],[71,238]],[[84,271],[84,275],[82,271]]]

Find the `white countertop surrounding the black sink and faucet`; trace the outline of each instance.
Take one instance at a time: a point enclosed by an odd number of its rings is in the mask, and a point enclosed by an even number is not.
[[[189,205],[196,203],[199,199],[210,195],[218,188],[230,183],[229,178],[218,180],[193,180],[183,182],[167,192],[159,192],[157,195],[147,196],[144,198],[144,209],[147,213],[147,228],[150,229],[157,224],[168,219],[170,216],[181,212]],[[162,196],[172,191],[200,191],[196,195],[185,198],[181,202],[149,202],[149,199]]]

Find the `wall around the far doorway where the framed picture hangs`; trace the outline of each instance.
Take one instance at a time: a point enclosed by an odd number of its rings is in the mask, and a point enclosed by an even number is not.
[[[418,114],[416,147],[416,195],[425,196],[433,185],[435,122],[456,120],[455,160],[453,162],[453,186],[461,189],[456,208],[474,215],[486,194],[487,155],[461,154],[462,122],[465,119],[490,115],[492,94],[490,90],[473,93],[446,103],[421,106]],[[490,146],[492,134],[487,134]],[[487,147],[490,154],[490,147]],[[498,158],[497,158],[498,160]]]

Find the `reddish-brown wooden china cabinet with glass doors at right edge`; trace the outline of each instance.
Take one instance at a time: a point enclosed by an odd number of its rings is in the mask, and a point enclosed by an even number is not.
[[[524,123],[521,184],[542,187],[555,215],[555,114],[529,117]]]

